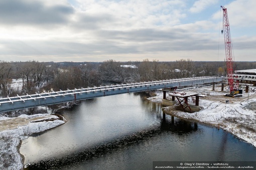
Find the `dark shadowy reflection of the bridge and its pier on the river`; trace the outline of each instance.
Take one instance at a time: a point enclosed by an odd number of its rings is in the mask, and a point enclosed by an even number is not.
[[[171,131],[182,135],[184,133],[193,132],[196,130],[196,128],[197,123],[191,123],[180,119],[176,122],[161,121],[161,124],[159,126],[154,126],[149,129],[134,132],[130,135],[125,135],[112,141],[95,143],[95,145],[90,148],[73,150],[69,154],[66,154],[65,157],[51,158],[49,160],[40,161],[31,165],[29,169],[37,169],[38,167],[40,167],[41,164],[43,165],[43,168],[49,169],[68,166],[77,162],[90,161],[94,158],[101,157],[102,155],[105,155],[107,153],[121,150],[138,144],[140,142],[150,140],[152,137],[161,135],[161,133],[165,133],[165,131]]]

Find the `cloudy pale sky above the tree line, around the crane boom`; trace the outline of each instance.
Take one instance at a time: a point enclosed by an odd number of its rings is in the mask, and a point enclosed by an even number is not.
[[[0,60],[255,61],[256,0],[0,0]]]

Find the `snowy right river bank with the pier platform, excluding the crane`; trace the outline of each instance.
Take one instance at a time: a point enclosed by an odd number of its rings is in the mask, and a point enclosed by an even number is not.
[[[250,88],[247,93],[243,90],[241,97],[228,97],[224,94],[229,91],[229,87],[226,84],[224,91],[221,91],[221,85],[215,84],[215,90],[212,90],[212,85],[180,88],[174,93],[167,92],[166,99],[163,99],[164,92],[159,90],[156,96],[151,96],[148,100],[162,103],[164,114],[222,128],[256,146],[256,91]],[[199,97],[198,106],[195,102],[196,95],[203,96]],[[185,98],[188,104],[182,101]],[[167,106],[166,103],[170,105]]]

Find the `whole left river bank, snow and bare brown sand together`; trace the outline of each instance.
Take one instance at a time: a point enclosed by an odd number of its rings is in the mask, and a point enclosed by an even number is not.
[[[22,114],[15,118],[0,117],[0,169],[23,169],[24,158],[19,152],[21,142],[29,135],[65,123],[65,118],[53,114]]]

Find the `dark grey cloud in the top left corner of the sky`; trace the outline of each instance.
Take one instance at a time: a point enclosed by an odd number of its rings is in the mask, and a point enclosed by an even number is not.
[[[73,13],[73,7],[64,4],[46,5],[39,0],[0,1],[0,22],[7,25],[59,24]]]

